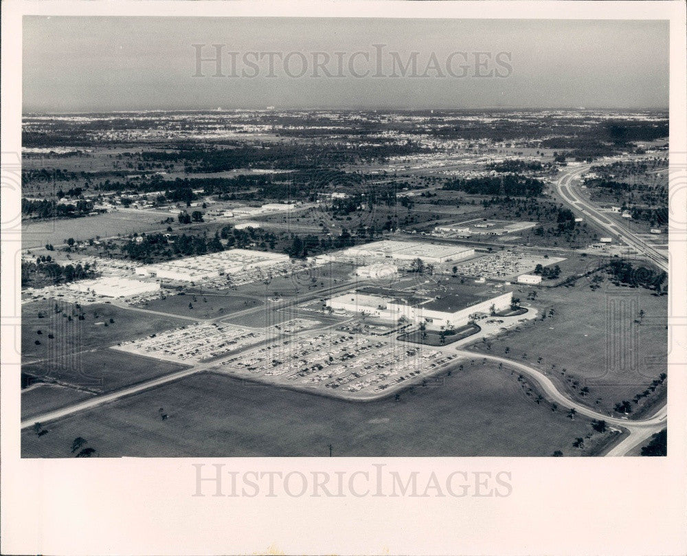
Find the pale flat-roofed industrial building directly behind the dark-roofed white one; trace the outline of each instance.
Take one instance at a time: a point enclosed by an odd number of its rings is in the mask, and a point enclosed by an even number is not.
[[[344,254],[355,257],[391,258],[394,260],[415,260],[425,263],[449,263],[475,254],[475,249],[460,245],[439,245],[414,241],[382,240],[349,247]]]

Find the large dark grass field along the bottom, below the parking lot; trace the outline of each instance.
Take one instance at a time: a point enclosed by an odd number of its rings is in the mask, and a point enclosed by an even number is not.
[[[481,365],[370,403],[193,375],[45,428],[23,432],[23,457],[71,457],[76,436],[102,457],[328,456],[329,444],[335,456],[576,456],[574,439],[591,431]]]

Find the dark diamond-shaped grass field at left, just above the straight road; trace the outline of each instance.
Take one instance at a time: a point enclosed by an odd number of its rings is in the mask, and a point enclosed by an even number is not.
[[[104,348],[24,365],[22,371],[46,381],[109,392],[183,368],[180,364]]]

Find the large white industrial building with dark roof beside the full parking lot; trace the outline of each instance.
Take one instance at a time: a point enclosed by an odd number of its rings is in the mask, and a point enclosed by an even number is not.
[[[368,288],[330,298],[326,306],[335,311],[363,313],[392,322],[401,318],[413,324],[425,322],[427,328],[441,330],[464,326],[475,313],[488,315],[504,311],[510,308],[512,300],[512,291],[498,296],[464,291],[427,299],[405,292]]]

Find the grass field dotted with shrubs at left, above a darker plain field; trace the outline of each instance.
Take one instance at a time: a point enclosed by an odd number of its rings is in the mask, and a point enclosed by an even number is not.
[[[78,320],[76,315],[72,315],[75,309],[74,304],[58,302],[58,307],[62,311],[55,313],[55,303],[54,300],[45,300],[22,306],[21,357],[23,362],[56,359],[70,353],[111,346],[122,340],[130,340],[188,324],[188,320],[177,319],[173,316],[164,317],[129,311],[107,303],[83,307],[86,318]],[[45,315],[44,318],[38,318],[39,311]],[[65,315],[72,316],[72,320],[69,321]],[[110,323],[110,319],[114,322]],[[107,326],[97,323],[107,323]],[[41,334],[38,334],[39,330]],[[50,334],[54,338],[49,338]],[[40,344],[36,344],[36,341]]]

